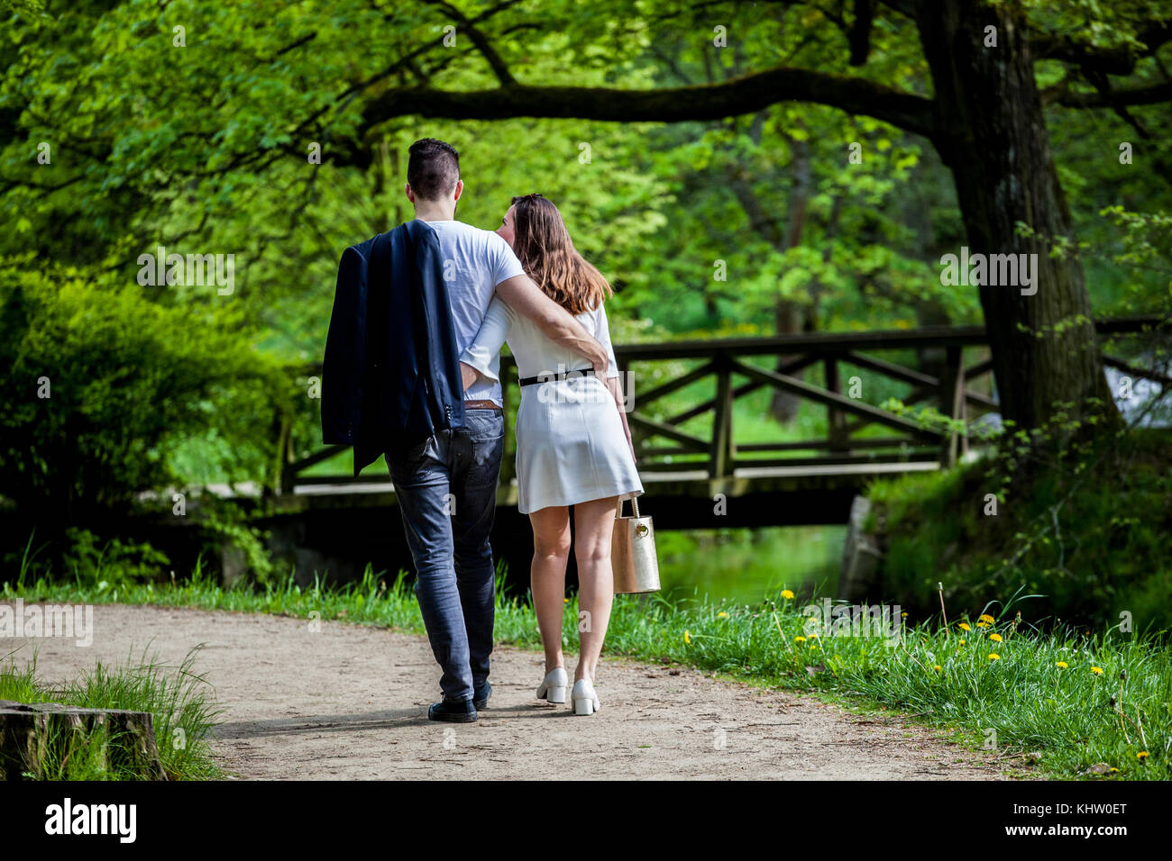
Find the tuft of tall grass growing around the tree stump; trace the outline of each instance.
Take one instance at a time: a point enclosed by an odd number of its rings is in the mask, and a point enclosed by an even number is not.
[[[61,689],[36,677],[36,656],[22,665],[16,652],[0,664],[0,699],[21,703],[61,703],[88,709],[128,709],[152,715],[159,761],[172,780],[216,779],[222,771],[211,758],[207,734],[218,713],[209,703],[211,686],[192,669],[198,649],[178,667],[134,655],[124,667],[98,663]],[[117,733],[102,727],[88,733],[62,732],[54,726],[41,746],[41,759],[26,773],[48,780],[137,780],[144,775],[120,767]]]

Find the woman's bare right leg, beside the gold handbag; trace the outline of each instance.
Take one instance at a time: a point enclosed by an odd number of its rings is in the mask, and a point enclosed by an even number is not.
[[[594,681],[614,602],[611,538],[614,534],[616,497],[592,499],[574,506],[574,559],[578,560],[578,636],[581,651],[574,681]]]

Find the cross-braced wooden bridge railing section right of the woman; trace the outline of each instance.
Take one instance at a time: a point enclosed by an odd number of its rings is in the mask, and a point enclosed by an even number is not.
[[[634,409],[627,421],[636,436],[641,467],[703,469],[709,478],[724,478],[743,467],[954,460],[966,449],[967,437],[927,428],[885,410],[863,392],[870,394],[875,388],[890,391],[890,384],[875,385],[883,378],[909,387],[909,391],[901,392],[905,404],[929,402],[952,418],[965,421],[970,405],[993,410],[996,403],[988,394],[969,388],[973,381],[989,374],[992,364],[987,360],[967,368],[963,364],[965,349],[981,347],[983,333],[979,329],[785,335],[631,346],[621,350],[619,361],[633,368],[628,380],[635,383]],[[874,355],[911,349],[941,351],[940,371],[928,374]],[[700,360],[700,363],[640,391],[639,369],[666,360]],[[818,382],[809,380],[810,376]],[[681,390],[702,391],[706,380],[710,396],[702,396],[699,403],[681,410],[656,410]],[[784,423],[776,423],[766,425],[776,430],[772,439],[738,442],[735,406],[761,389],[783,392],[798,404],[823,410],[825,421],[818,423],[817,436],[796,436]],[[668,415],[655,417],[653,411]],[[683,425],[695,429],[696,419],[702,416],[710,426],[706,436],[683,429]]]

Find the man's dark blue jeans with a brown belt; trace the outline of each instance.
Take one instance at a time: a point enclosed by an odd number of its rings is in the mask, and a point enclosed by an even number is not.
[[[496,575],[489,533],[505,433],[497,410],[464,415],[464,428],[387,451],[415,559],[415,595],[451,701],[470,699],[489,677]]]

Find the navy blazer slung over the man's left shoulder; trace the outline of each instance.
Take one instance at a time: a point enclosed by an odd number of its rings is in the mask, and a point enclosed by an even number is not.
[[[464,426],[440,238],[418,219],[342,253],[321,368],[321,438],[354,474],[395,440]]]

